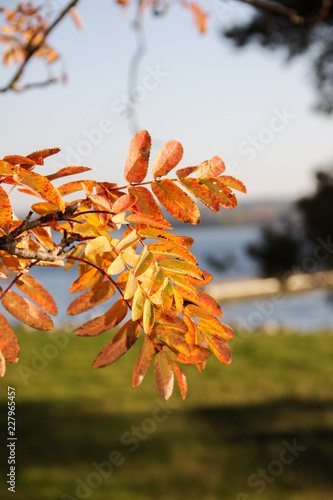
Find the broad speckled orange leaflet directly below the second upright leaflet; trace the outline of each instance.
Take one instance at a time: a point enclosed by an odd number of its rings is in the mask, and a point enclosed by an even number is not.
[[[170,179],[154,181],[152,190],[163,207],[178,220],[189,224],[200,222],[200,212],[194,201]]]

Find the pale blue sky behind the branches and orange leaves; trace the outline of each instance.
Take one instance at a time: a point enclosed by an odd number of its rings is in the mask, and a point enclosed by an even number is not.
[[[205,35],[177,5],[163,17],[145,17],[147,52],[135,108],[140,129],[152,136],[152,159],[165,142],[177,139],[184,146],[183,167],[214,155],[224,159],[227,172],[247,185],[240,203],[308,193],[314,169],[333,158],[333,118],[311,109],[316,96],[310,65],[303,59],[286,64],[283,53],[256,46],[233,48],[219,29],[252,9],[235,0],[222,12],[222,0],[201,4],[210,12]],[[133,12],[122,14],[113,0],[81,0],[78,11],[83,31],[68,18],[50,38],[64,56],[68,83],[0,95],[0,155],[60,147],[40,173],[79,164],[93,169],[84,178],[123,184],[133,135],[125,116],[136,48]],[[1,85],[12,71],[1,68]],[[26,81],[44,76],[34,63]]]

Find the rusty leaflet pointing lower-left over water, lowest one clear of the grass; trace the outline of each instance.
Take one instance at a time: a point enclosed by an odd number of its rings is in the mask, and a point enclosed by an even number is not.
[[[87,292],[71,302],[67,308],[67,314],[76,315],[89,311],[106,300],[109,300],[116,292],[116,286],[111,281],[97,283]]]

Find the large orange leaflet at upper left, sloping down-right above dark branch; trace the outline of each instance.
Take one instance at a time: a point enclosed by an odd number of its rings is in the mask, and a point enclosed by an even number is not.
[[[19,167],[16,168],[18,169]],[[46,177],[21,168],[14,173],[13,178],[22,186],[28,187],[39,198],[57,205],[62,212],[65,211],[65,202],[60,192]]]

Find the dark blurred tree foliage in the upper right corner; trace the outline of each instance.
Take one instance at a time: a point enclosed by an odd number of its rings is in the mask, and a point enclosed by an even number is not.
[[[250,2],[249,2],[250,3]],[[257,10],[248,23],[223,32],[237,47],[250,42],[266,49],[285,49],[288,59],[307,55],[313,65],[318,91],[316,108],[333,112],[333,4],[323,0],[279,0],[269,2],[294,10],[302,22],[269,10]]]

